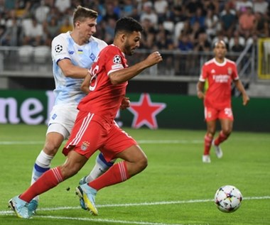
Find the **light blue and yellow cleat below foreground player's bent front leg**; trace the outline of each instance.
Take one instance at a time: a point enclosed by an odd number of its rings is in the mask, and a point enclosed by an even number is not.
[[[87,184],[76,187],[75,193],[80,198],[80,205],[82,209],[90,211],[91,214],[97,216],[97,208],[95,207],[95,196],[97,191]],[[83,202],[83,204],[82,204]]]

